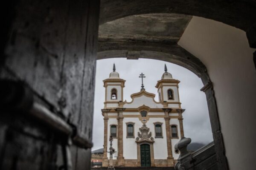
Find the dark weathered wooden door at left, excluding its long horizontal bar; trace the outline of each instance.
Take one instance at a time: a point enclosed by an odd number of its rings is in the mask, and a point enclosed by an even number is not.
[[[1,79],[25,82],[36,102],[91,140],[99,0],[20,0],[14,6]],[[58,169],[58,146],[66,139],[20,114],[1,111],[0,169]],[[73,146],[71,153],[73,169],[89,168],[90,149]]]

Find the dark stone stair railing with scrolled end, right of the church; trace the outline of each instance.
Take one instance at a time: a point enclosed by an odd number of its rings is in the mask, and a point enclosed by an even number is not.
[[[187,150],[190,142],[190,138],[183,137],[175,144],[175,150],[180,151],[180,156],[175,164],[175,170],[218,170],[214,143],[210,142],[195,152],[190,153]]]

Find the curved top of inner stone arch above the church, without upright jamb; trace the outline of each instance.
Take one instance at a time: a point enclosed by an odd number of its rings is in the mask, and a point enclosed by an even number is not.
[[[136,46],[133,48],[135,51],[131,50],[119,50],[118,45],[111,45],[109,49],[117,48],[118,50],[106,50],[103,51],[102,47],[98,52],[97,59],[107,59],[107,58],[127,58],[129,59],[132,55],[133,59],[146,58],[146,59],[158,59],[166,62],[172,62],[174,64],[180,65],[188,70],[192,71],[198,77],[201,77],[203,74],[207,73],[205,65],[195,56],[190,54],[188,51],[184,50],[181,47],[178,47],[178,51],[170,49],[171,46],[166,45],[166,47],[154,47],[147,46],[146,48],[141,46]],[[122,47],[121,47],[122,48]],[[129,47],[123,47],[124,49]],[[150,48],[150,49],[149,49]],[[154,49],[154,51],[151,51]],[[138,50],[138,51],[137,51]],[[176,55],[175,55],[176,54]]]

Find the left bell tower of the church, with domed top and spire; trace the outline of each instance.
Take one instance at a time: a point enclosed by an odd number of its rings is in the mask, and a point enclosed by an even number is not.
[[[109,78],[103,80],[103,83],[105,87],[104,108],[119,108],[119,102],[123,101],[125,80],[119,78],[115,64],[113,64],[113,71],[109,74]]]

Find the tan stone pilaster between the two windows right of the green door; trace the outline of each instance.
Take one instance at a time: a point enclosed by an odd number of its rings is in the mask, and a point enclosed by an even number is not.
[[[172,141],[171,141],[171,132],[170,132],[170,118],[169,118],[169,112],[172,111],[172,109],[163,109],[164,110],[164,119],[166,124],[166,141],[167,141],[167,166],[173,167],[174,166],[174,158],[172,157]]]

